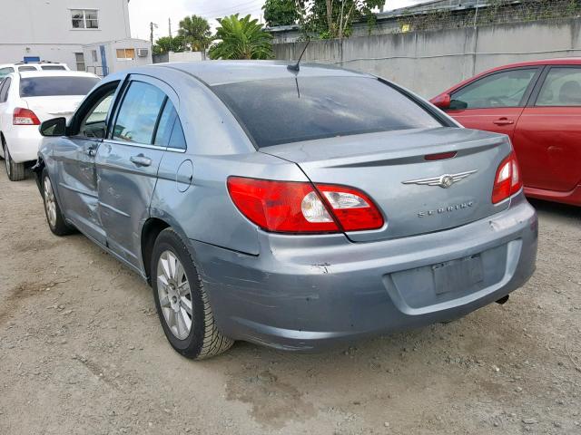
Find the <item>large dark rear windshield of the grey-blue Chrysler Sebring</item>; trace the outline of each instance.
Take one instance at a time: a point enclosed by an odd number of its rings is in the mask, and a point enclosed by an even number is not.
[[[441,127],[401,92],[367,77],[305,77],[213,86],[259,148],[376,131]]]

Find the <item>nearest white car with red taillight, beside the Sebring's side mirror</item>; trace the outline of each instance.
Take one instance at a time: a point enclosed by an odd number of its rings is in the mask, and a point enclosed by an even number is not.
[[[35,71],[8,74],[0,84],[0,157],[12,181],[25,179],[25,167],[36,160],[41,122],[68,121],[84,96],[101,79],[92,73]]]

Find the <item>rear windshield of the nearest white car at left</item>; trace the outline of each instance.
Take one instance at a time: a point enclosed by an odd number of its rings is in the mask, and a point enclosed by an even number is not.
[[[30,77],[20,81],[20,96],[86,95],[97,82],[96,77]]]

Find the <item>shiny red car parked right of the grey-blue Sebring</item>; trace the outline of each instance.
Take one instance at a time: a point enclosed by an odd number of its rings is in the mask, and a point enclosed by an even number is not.
[[[470,129],[510,136],[525,194],[581,206],[581,59],[501,66],[431,102]]]

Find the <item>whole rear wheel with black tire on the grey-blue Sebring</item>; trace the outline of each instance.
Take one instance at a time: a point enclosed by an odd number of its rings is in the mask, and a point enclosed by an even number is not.
[[[218,330],[190,251],[172,228],[155,240],[150,270],[157,314],[173,349],[193,360],[230,349],[234,342]]]

